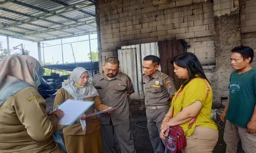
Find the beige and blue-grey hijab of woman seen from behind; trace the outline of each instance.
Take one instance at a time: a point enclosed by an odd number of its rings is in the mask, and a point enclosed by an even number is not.
[[[37,89],[44,71],[31,56],[6,56],[0,62],[0,105],[23,88],[33,86]]]

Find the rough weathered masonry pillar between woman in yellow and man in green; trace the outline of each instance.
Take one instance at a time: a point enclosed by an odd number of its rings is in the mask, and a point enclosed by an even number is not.
[[[215,0],[214,13],[216,70],[211,80],[214,101],[219,102],[229,93],[227,87],[232,72],[230,50],[241,45],[239,1]]]

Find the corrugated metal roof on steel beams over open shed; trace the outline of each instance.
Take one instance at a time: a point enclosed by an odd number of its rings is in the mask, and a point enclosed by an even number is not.
[[[96,0],[0,0],[0,35],[46,41],[96,33]]]

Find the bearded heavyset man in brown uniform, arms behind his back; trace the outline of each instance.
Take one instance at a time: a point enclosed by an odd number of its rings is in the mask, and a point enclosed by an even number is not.
[[[101,138],[104,153],[116,153],[114,132],[122,153],[135,153],[131,133],[131,113],[128,97],[134,93],[128,75],[118,72],[119,60],[110,57],[102,66],[102,73],[94,75],[92,85],[98,90],[104,105],[115,108],[112,114],[100,114]]]

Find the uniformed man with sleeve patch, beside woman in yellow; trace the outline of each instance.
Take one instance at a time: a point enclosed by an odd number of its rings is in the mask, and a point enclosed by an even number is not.
[[[170,107],[170,99],[176,92],[174,81],[158,70],[160,59],[149,55],[143,59],[143,89],[147,116],[147,128],[154,152],[165,152],[160,139],[161,123]]]

